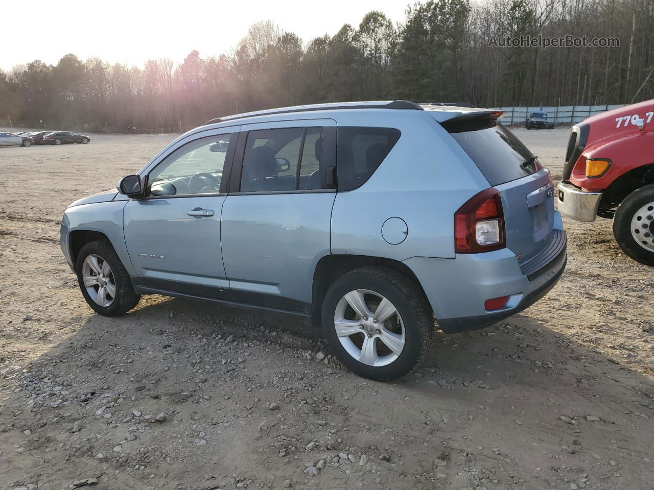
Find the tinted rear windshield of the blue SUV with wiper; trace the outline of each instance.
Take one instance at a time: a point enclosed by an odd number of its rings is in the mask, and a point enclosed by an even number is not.
[[[472,118],[441,124],[475,162],[491,186],[542,169],[532,152],[497,120]]]

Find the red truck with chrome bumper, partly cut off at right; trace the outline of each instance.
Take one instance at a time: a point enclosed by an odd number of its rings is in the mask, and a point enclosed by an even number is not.
[[[654,99],[608,110],[574,125],[559,211],[577,221],[613,218],[615,241],[654,265]]]

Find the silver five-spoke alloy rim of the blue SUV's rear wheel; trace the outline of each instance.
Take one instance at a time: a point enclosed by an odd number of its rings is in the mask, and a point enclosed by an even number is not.
[[[368,366],[386,366],[404,350],[405,329],[397,308],[370,289],[355,289],[336,305],[334,328],[341,345]]]

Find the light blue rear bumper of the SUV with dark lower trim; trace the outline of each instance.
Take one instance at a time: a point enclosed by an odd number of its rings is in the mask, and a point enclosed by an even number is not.
[[[560,218],[555,223],[555,229],[565,238]],[[488,327],[545,296],[565,270],[566,247],[564,240],[556,255],[529,277],[508,248],[457,254],[455,259],[413,257],[404,263],[421,283],[439,327],[445,333],[457,333]],[[487,299],[502,296],[510,297],[507,306],[492,312],[485,310]]]

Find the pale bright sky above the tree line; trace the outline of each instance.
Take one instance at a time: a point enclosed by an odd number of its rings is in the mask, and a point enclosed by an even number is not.
[[[334,35],[343,24],[358,27],[370,10],[402,22],[413,0],[328,1],[29,1],[29,16],[10,20],[4,9],[0,69],[41,59],[56,65],[68,53],[82,61],[97,56],[110,63],[142,67],[148,59],[168,57],[182,63],[192,50],[201,57],[230,52],[250,25],[272,20],[306,45],[314,37]],[[56,6],[56,8],[54,8]]]

